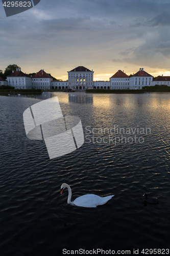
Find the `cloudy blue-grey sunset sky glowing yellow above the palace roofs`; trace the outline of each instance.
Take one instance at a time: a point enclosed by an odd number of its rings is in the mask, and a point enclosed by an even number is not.
[[[169,0],[41,0],[10,17],[0,5],[2,70],[14,63],[64,80],[78,66],[94,80],[118,69],[170,75]]]

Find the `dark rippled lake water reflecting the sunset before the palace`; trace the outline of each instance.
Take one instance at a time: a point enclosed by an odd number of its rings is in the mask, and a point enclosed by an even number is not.
[[[55,96],[63,116],[80,117],[84,144],[50,159],[43,140],[27,138],[23,112]],[[44,92],[0,100],[0,255],[168,254],[170,94]],[[114,197],[96,208],[68,205],[63,182],[72,200]],[[144,203],[144,193],[159,204]]]

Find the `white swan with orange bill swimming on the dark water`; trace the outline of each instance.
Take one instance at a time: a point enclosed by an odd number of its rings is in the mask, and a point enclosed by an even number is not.
[[[82,207],[97,207],[97,205],[102,205],[107,203],[114,195],[108,196],[108,197],[99,197],[94,194],[87,194],[81,197],[78,197],[75,199],[75,201],[71,202],[71,188],[68,184],[63,183],[61,185],[61,192],[60,194],[63,193],[63,189],[67,187],[68,188],[68,199],[67,203],[68,204],[75,204],[77,206],[82,206]]]

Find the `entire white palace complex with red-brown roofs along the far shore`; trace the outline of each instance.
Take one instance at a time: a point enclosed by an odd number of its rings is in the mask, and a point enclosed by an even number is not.
[[[139,90],[144,86],[154,86],[155,84],[166,84],[170,86],[170,76],[159,76],[153,80],[153,76],[140,68],[139,71],[128,76],[124,71],[118,70],[109,81],[93,81],[93,70],[79,66],[71,71],[67,71],[68,79],[53,80],[44,70],[40,70],[33,76],[16,69],[7,76],[9,86],[15,89],[110,89],[110,90]]]

